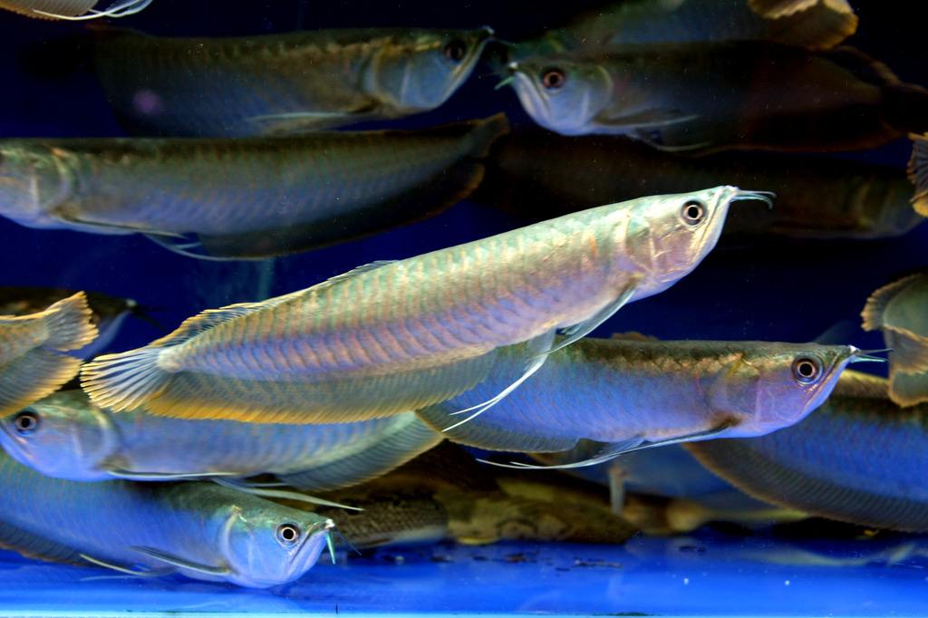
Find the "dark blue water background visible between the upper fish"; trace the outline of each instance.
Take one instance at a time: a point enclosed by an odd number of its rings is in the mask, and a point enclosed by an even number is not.
[[[301,2],[298,0],[155,0],[144,13],[113,22],[158,34],[231,35],[285,32],[296,27],[445,26],[488,24],[516,40],[597,3]],[[923,20],[904,3],[853,3],[861,25],[850,41],[886,61],[905,81],[928,84]],[[886,8],[893,6],[893,9]],[[895,8],[898,7],[898,8]],[[0,135],[122,135],[85,67],[61,58],[60,74],[24,71],[20,58],[82,26],[0,14]],[[483,117],[505,110],[515,124],[530,122],[509,89],[479,65],[445,107],[398,122],[421,126]],[[855,158],[905,166],[905,140]],[[800,164],[797,162],[797,164]],[[751,187],[764,188],[764,187]],[[508,215],[464,202],[431,221],[323,251],[278,259],[273,265],[192,261],[141,237],[107,237],[32,230],[0,220],[0,285],[61,286],[129,296],[160,310],[167,328],[201,309],[255,300],[308,287],[374,260],[403,258],[505,231]],[[671,339],[808,341],[841,320],[858,321],[872,290],[928,265],[928,226],[885,241],[789,241],[744,246],[723,241],[690,277],[652,299],[634,303],[599,333],[635,329]],[[273,268],[273,285],[261,283]],[[266,279],[265,279],[266,280]],[[141,322],[124,328],[115,349],[161,333]],[[879,336],[857,333],[862,347],[882,347]]]

